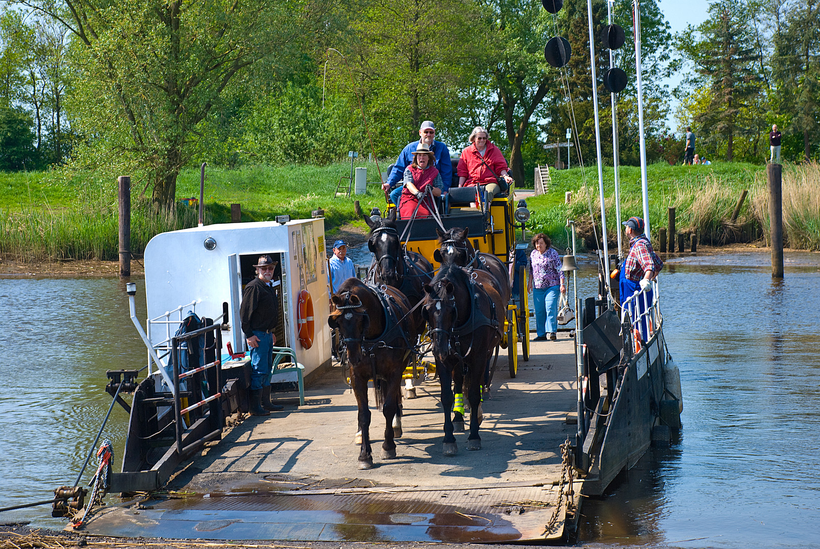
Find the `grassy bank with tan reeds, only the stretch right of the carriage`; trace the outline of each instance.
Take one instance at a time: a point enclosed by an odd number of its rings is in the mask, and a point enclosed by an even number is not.
[[[699,243],[720,246],[755,242],[768,234],[768,187],[765,166],[717,163],[712,166],[649,166],[649,225],[657,241],[658,228],[666,227],[667,208],[674,207],[676,230],[693,234]],[[623,166],[620,171],[621,218],[642,216],[640,169]],[[594,247],[590,208],[599,222],[599,183],[594,166],[586,169],[553,170],[549,192],[528,201],[533,211],[531,225],[553,237],[558,247],[567,244],[564,224],[576,220],[587,247]],[[586,184],[584,184],[586,183]],[[744,190],[748,197],[736,220],[732,212]],[[572,202],[564,204],[567,191]],[[617,243],[615,184],[612,168],[604,168],[608,241]],[[820,250],[820,167],[784,166],[783,218],[786,245]],[[600,228],[597,228],[600,234]]]

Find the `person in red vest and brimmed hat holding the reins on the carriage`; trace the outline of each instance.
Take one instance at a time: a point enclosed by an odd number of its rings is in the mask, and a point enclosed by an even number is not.
[[[412,164],[404,170],[404,186],[399,217],[408,220],[411,217],[430,217],[433,210],[433,197],[440,197],[444,182],[439,170],[433,166],[435,155],[426,143],[419,143],[413,151]]]

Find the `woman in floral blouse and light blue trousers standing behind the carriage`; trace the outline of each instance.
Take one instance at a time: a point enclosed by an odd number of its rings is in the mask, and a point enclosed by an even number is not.
[[[533,341],[555,339],[558,331],[558,290],[567,292],[564,275],[561,269],[561,257],[549,247],[552,242],[546,234],[539,233],[532,237],[535,246],[530,254],[530,277],[527,289],[532,291],[533,308],[535,308],[535,331],[538,337]],[[535,288],[533,288],[535,285]]]

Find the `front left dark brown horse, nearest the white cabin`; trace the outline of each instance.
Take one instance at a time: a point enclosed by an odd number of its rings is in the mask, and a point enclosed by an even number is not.
[[[370,408],[367,382],[373,380],[376,405],[385,415],[385,442],[381,458],[396,456],[395,437],[401,433],[401,382],[413,356],[417,324],[408,315],[407,297],[395,288],[379,288],[347,279],[331,297],[335,311],[327,323],[339,329],[348,353],[353,392],[358,404],[358,429],[362,435],[359,469],[372,469]]]

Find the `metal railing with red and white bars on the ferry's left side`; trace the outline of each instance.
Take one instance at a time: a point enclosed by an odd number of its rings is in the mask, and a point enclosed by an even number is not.
[[[222,433],[222,406],[219,402],[219,399],[222,397],[222,324],[211,324],[209,326],[205,326],[204,328],[196,329],[189,333],[182,333],[178,336],[171,337],[171,367],[172,373],[174,378],[174,412],[175,412],[175,427],[176,427],[176,452],[179,456],[185,456],[190,451],[196,450],[198,447],[201,447],[205,442],[214,440],[216,438],[221,437]],[[179,350],[180,344],[193,338],[198,338],[200,335],[204,333],[214,332],[216,338],[216,345],[214,347],[214,361],[208,362],[206,365],[199,366],[198,368],[194,368],[191,370],[186,370],[185,372],[180,372],[180,363],[179,363]],[[207,349],[206,349],[207,350]],[[180,397],[180,381],[189,378],[190,376],[197,374],[198,372],[203,372],[205,370],[209,370],[210,368],[215,368],[215,374],[212,379],[215,380],[213,385],[211,383],[207,383],[207,387],[209,389],[208,392],[211,392],[208,397],[203,398],[199,402],[195,402],[185,408],[182,407],[182,399]],[[210,418],[211,418],[211,431],[204,436],[198,438],[194,442],[190,442],[183,446],[183,434],[185,433],[185,423],[183,422],[183,415],[189,413],[190,411],[197,410],[203,406],[208,405],[210,409]]]

